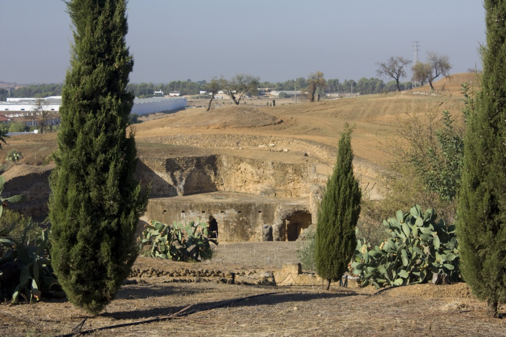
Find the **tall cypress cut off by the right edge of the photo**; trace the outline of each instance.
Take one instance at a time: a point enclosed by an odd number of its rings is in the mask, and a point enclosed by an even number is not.
[[[497,317],[506,301],[506,1],[484,6],[487,44],[464,141],[457,237],[462,276]]]

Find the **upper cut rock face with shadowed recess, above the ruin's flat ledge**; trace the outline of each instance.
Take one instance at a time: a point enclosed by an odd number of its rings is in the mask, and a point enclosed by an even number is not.
[[[224,155],[144,157],[136,174],[145,183],[153,181],[152,197],[233,191],[277,198],[308,198],[311,186],[322,181],[313,164]]]

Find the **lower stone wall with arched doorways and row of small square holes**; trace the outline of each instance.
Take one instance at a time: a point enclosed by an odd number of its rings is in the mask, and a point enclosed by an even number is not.
[[[198,196],[150,199],[142,220],[218,222],[218,238],[224,242],[294,240],[311,224],[307,199],[277,200],[230,192]]]

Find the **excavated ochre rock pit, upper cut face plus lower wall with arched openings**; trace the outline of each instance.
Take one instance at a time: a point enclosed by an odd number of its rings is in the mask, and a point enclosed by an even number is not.
[[[326,181],[314,164],[227,155],[142,157],[137,176],[152,182],[142,221],[215,219],[225,242],[296,240]]]

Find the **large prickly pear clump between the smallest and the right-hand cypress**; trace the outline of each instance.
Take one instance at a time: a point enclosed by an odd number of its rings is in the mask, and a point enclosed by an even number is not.
[[[436,221],[433,209],[425,213],[418,205],[409,212],[397,211],[396,218],[383,224],[391,235],[379,246],[358,240],[351,274],[361,286],[457,281],[458,248],[455,226]]]

